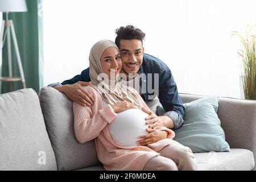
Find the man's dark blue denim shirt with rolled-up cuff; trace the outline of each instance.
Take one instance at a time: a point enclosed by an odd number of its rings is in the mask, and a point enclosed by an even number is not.
[[[158,96],[160,103],[163,105],[167,115],[174,121],[174,128],[178,129],[184,123],[184,106],[181,98],[178,94],[177,86],[174,81],[174,77],[170,71],[170,68],[158,58],[144,53],[143,63],[141,65],[141,74],[144,73],[144,77],[140,79],[140,86],[144,89],[142,98],[144,101],[152,100],[155,96]],[[155,74],[158,73],[158,74]],[[142,74],[143,75],[143,74]],[[159,85],[155,88],[155,77],[158,75]],[[89,68],[86,68],[80,75],[65,80],[61,85],[74,84],[77,81],[90,81]],[[153,84],[151,84],[151,82]],[[50,84],[48,86],[60,85],[59,83]]]

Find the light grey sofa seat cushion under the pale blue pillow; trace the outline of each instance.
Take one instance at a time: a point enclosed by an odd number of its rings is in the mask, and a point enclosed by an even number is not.
[[[195,153],[202,171],[249,171],[254,168],[253,152],[231,148],[230,152]]]

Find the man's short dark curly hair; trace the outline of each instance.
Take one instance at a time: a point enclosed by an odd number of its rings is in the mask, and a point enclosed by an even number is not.
[[[115,38],[115,44],[117,44],[117,47],[120,47],[120,40],[141,40],[143,44],[143,40],[145,38],[145,35],[141,29],[134,27],[133,25],[127,25],[126,27],[120,27],[115,29],[115,34],[117,34],[117,37]]]

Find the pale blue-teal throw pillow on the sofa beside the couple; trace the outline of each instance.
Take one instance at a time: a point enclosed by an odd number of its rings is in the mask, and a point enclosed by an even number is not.
[[[218,99],[218,96],[210,96],[184,104],[184,124],[174,130],[174,140],[193,152],[229,152],[230,147],[217,115]]]

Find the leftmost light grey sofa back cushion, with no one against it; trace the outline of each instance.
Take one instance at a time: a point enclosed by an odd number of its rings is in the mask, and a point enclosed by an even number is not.
[[[0,170],[56,170],[38,95],[22,89],[0,95]]]

